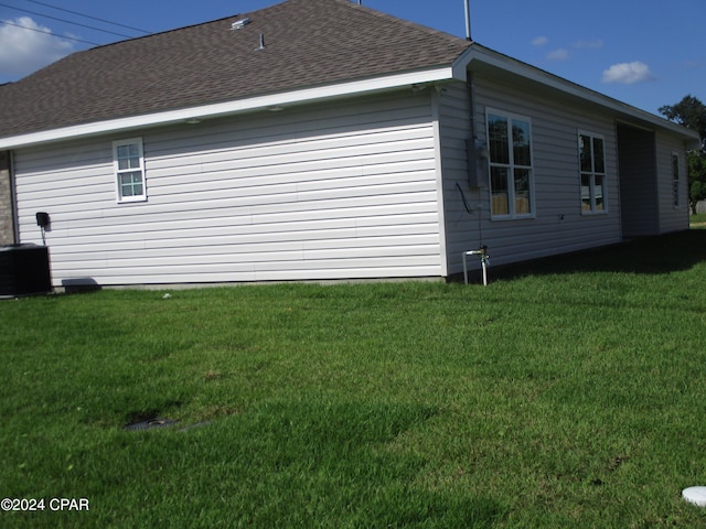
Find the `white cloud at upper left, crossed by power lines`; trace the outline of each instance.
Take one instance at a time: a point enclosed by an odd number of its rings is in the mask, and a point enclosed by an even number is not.
[[[46,66],[74,51],[73,43],[47,33],[29,17],[0,25],[0,77],[21,78]],[[30,28],[28,30],[23,28]],[[39,31],[32,31],[39,30]]]

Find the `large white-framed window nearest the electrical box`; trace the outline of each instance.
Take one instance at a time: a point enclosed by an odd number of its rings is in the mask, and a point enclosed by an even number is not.
[[[534,214],[530,119],[493,110],[486,118],[492,216],[530,217]]]

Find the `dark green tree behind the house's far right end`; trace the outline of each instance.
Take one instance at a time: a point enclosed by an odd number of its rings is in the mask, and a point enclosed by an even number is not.
[[[695,130],[706,139],[706,105],[692,95],[684,97],[676,105],[660,107],[660,114],[670,121]],[[688,166],[688,203],[692,213],[696,213],[696,203],[706,199],[706,153],[705,143],[700,150],[688,151],[686,162]]]

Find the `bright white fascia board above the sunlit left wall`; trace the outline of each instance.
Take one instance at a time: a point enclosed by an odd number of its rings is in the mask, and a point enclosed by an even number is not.
[[[246,111],[267,109],[293,104],[315,102],[325,99],[354,95],[374,94],[415,84],[439,83],[451,80],[454,69],[451,66],[439,66],[431,69],[405,72],[402,74],[367,79],[351,80],[335,85],[302,88],[292,91],[235,99],[226,102],[167,110],[142,116],[96,121],[61,129],[31,132],[8,138],[0,138],[0,150],[38,145],[61,140],[86,138],[114,132],[129,132],[146,127],[204,120],[232,116]]]

